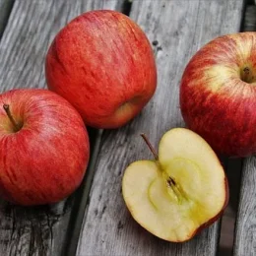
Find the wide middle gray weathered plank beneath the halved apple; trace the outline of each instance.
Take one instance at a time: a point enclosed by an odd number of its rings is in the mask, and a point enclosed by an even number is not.
[[[184,126],[178,103],[184,67],[210,39],[238,32],[242,10],[240,0],[133,1],[131,17],[148,34],[155,49],[159,86],[153,100],[135,120],[103,134],[77,255],[216,254],[218,223],[184,244],[162,241],[136,224],[122,199],[121,179],[130,162],[152,158],[139,137],[141,132],[158,148],[165,131]]]

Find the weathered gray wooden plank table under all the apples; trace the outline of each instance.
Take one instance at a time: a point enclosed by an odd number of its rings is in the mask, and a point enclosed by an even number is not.
[[[256,255],[254,157],[224,160],[231,195],[223,222],[183,244],[162,241],[136,224],[121,196],[127,164],[152,158],[139,134],[147,133],[157,148],[165,131],[184,126],[178,101],[184,67],[207,41],[242,30],[245,1],[0,0],[1,92],[45,88],[44,56],[53,36],[72,18],[93,9],[124,12],[147,33],[158,64],[157,93],[125,127],[90,131],[90,167],[83,185],[70,198],[34,208],[0,202],[0,256],[221,255],[220,235],[222,245],[224,235],[233,233],[233,227],[226,225],[228,211],[236,215],[233,255]],[[221,234],[222,225],[227,231]],[[232,246],[232,238],[229,243]]]

